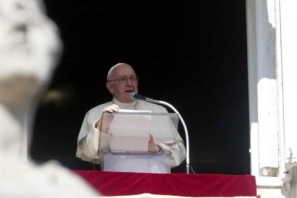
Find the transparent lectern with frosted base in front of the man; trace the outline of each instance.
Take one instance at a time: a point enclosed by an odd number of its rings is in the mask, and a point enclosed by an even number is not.
[[[178,121],[174,113],[105,112],[98,151],[103,155],[103,170],[170,173]],[[159,150],[149,152],[149,147]]]

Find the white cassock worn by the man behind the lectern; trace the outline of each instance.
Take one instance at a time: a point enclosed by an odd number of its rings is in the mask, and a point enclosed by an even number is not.
[[[110,102],[106,102],[104,104],[98,105],[92,108],[91,110],[89,110],[84,117],[84,121],[82,123],[80,133],[78,136],[76,157],[79,157],[84,161],[89,161],[95,164],[101,164],[101,170],[103,170],[102,169],[102,165],[103,165],[102,151],[107,150],[110,135],[103,132],[101,133],[100,130],[94,127],[94,123],[101,118],[103,109],[112,104],[118,105],[120,109],[148,110],[148,111],[152,111],[153,113],[168,113],[166,108],[150,102],[137,100],[131,104],[125,104],[118,101],[115,98],[113,98],[112,101]],[[99,141],[100,141],[100,147],[99,147]],[[157,142],[157,145],[159,145],[162,148],[162,150],[164,149],[166,151],[170,151],[171,153],[174,153],[174,158],[170,160],[170,168],[179,166],[186,158],[186,149],[185,149],[183,140],[180,137],[178,132],[176,134],[176,141],[174,146],[171,146],[170,144],[166,144],[162,142]],[[145,167],[145,166],[148,166],[148,164],[156,165],[155,162],[152,163],[152,161],[150,161],[149,163],[146,163],[146,164],[144,162],[144,164],[141,166],[141,163],[143,162],[144,161],[133,162],[134,164],[137,164],[137,167],[133,167],[134,171],[132,172],[146,172],[146,171],[141,171],[139,167]],[[130,162],[127,162],[127,166],[129,166],[128,165],[129,163]],[[124,168],[127,166],[125,166],[125,162],[122,161],[121,164],[118,165],[118,171],[126,171],[126,170],[129,171],[129,169]],[[153,167],[152,167],[152,172],[154,172]],[[158,172],[158,170],[156,170],[156,172]]]

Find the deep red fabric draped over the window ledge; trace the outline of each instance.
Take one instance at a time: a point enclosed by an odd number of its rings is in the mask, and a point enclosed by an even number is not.
[[[251,175],[74,172],[104,196],[142,193],[192,197],[256,196],[256,179]]]

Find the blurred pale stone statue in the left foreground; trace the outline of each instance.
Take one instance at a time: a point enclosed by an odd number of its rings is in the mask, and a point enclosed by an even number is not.
[[[57,162],[37,166],[23,152],[37,99],[62,51],[43,6],[38,0],[0,1],[0,196],[99,196]]]

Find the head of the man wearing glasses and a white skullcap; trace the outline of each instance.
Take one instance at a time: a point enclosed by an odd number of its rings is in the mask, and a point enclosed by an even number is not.
[[[127,83],[122,84],[118,80],[115,80],[122,77],[128,78]],[[136,78],[135,71],[125,64],[119,65],[112,71],[109,80],[114,81],[106,83],[106,87],[118,101],[123,103],[132,103],[134,101],[130,98],[129,94],[132,92],[138,93],[138,81],[132,82],[130,80],[131,77]]]

